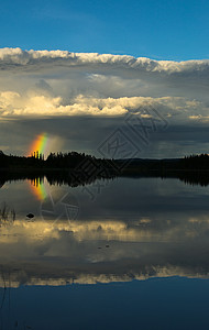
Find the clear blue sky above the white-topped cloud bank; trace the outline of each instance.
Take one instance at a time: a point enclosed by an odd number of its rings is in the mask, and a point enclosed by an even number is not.
[[[207,0],[1,1],[0,47],[209,58]]]

